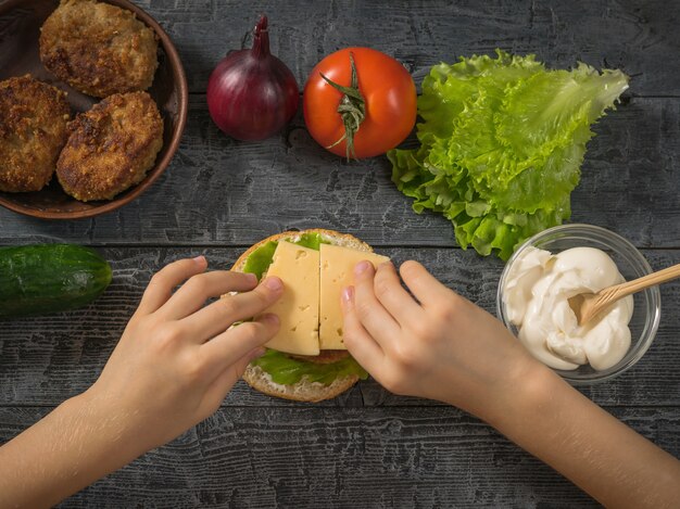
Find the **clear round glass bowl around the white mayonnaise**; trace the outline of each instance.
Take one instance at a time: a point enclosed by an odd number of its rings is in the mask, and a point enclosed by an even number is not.
[[[553,254],[579,246],[600,249],[614,259],[621,276],[627,281],[652,271],[650,264],[640,251],[622,237],[604,228],[591,225],[561,225],[544,230],[527,240],[515,251],[515,254],[505,265],[499,281],[496,314],[515,336],[517,335],[517,327],[509,322],[505,313],[503,288],[513,264],[530,246],[546,250]],[[658,287],[652,287],[633,294],[633,315],[629,323],[630,348],[618,364],[600,371],[590,365],[580,366],[575,370],[554,369],[554,371],[574,385],[585,385],[610,380],[634,366],[652,344],[658,329],[662,306]]]

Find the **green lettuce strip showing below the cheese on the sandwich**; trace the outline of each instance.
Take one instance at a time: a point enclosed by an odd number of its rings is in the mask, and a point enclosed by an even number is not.
[[[314,364],[306,360],[294,359],[275,349],[267,348],[266,353],[253,360],[254,366],[260,366],[269,373],[275,383],[292,385],[306,377],[310,382],[318,382],[330,385],[338,377],[356,374],[366,380],[368,373],[352,357],[330,364]]]

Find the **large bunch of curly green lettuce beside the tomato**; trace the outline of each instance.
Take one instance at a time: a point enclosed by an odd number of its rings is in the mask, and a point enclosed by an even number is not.
[[[569,218],[590,127],[627,88],[620,71],[550,71],[501,50],[435,65],[418,99],[420,147],[388,153],[392,180],[414,211],[451,220],[463,249],[507,259]]]

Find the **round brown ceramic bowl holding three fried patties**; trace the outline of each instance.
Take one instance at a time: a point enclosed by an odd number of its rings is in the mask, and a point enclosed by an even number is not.
[[[159,37],[159,68],[148,90],[163,117],[163,148],[153,168],[137,186],[111,201],[79,202],[66,194],[56,177],[41,191],[0,192],[0,205],[42,219],[79,219],[114,211],[139,196],[165,170],[179,145],[187,120],[187,78],[175,46],[163,28],[144,11],[127,0],[105,0],[133,11]],[[60,81],[40,62],[38,38],[40,26],[56,9],[59,0],[0,0],[0,80],[30,73],[35,78],[68,92],[72,112],[89,110],[99,99],[74,90]]]

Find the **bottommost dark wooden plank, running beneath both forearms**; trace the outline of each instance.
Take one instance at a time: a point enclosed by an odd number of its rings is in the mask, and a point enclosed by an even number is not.
[[[0,408],[0,443],[49,408]],[[677,408],[612,411],[680,455]],[[223,408],[62,507],[596,507],[451,407]]]

